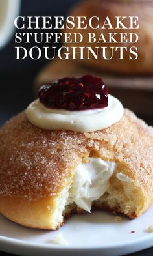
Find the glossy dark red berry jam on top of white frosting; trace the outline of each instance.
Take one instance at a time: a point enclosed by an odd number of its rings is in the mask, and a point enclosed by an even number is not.
[[[38,91],[40,102],[51,109],[78,111],[108,106],[108,89],[97,76],[62,78]]]

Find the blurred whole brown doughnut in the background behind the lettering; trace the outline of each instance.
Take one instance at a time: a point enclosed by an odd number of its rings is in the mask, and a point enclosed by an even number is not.
[[[132,0],[132,1],[106,1],[106,0],[85,0],[78,5],[75,5],[67,14],[67,16],[83,16],[86,17],[88,21],[89,18],[92,16],[97,16],[100,18],[100,24],[104,23],[106,17],[110,19],[112,24],[112,29],[108,26],[105,26],[104,29],[96,28],[97,27],[97,20],[93,19],[93,26],[92,29],[89,25],[86,29],[79,29],[77,27],[77,23],[73,28],[65,29],[66,33],[81,33],[84,37],[82,42],[68,42],[64,45],[69,47],[69,51],[71,51],[71,57],[73,57],[73,51],[71,47],[78,47],[84,46],[84,59],[79,59],[80,55],[77,55],[76,62],[80,64],[84,64],[84,66],[89,66],[90,68],[95,68],[100,72],[109,72],[113,74],[133,74],[133,75],[148,75],[152,74],[153,66],[152,66],[152,56],[153,56],[153,33],[152,33],[152,23],[153,23],[153,2],[152,1],[143,1],[143,0]],[[116,16],[126,16],[124,18],[122,29],[115,29],[116,25]],[[136,16],[139,18],[139,28],[138,29],[130,29],[130,21],[129,16]],[[88,23],[88,22],[86,22]],[[118,40],[117,42],[109,43],[107,42],[89,42],[88,33],[95,33],[97,40],[100,37],[100,34],[103,33],[104,37],[108,39],[108,33],[135,33],[139,36],[139,40],[137,42],[132,43],[128,42],[118,42],[121,41],[119,39],[119,35],[115,36],[114,38]],[[128,37],[127,37],[128,38]],[[135,38],[135,36],[134,36]],[[124,41],[124,40],[123,40]],[[127,51],[123,50],[123,59],[119,55],[119,49],[113,50],[113,57],[112,59],[104,59],[102,57],[102,51],[99,51],[98,59],[95,59],[92,55],[90,55],[86,48],[90,46],[91,48],[95,49],[96,47],[106,47],[106,56],[109,58],[112,56],[112,50],[110,47],[125,47],[127,46]],[[130,59],[129,49],[132,46],[132,50],[137,47],[137,56],[131,55],[133,59]],[[134,47],[134,48],[133,48]],[[96,51],[95,51],[96,52]]]

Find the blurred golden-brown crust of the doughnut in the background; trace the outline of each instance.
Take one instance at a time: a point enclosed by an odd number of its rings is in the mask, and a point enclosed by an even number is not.
[[[108,72],[117,72],[123,74],[152,74],[152,56],[153,56],[153,34],[152,31],[152,22],[153,22],[153,2],[152,1],[141,1],[141,0],[132,0],[132,1],[101,1],[101,0],[86,0],[82,3],[79,3],[75,6],[70,12],[69,16],[100,16],[102,20],[105,20],[106,16],[110,18],[115,27],[115,16],[138,16],[139,17],[139,29],[66,29],[68,33],[82,33],[84,35],[84,40],[80,44],[73,44],[73,46],[91,46],[92,48],[96,46],[125,46],[124,43],[92,43],[89,44],[87,33],[95,33],[97,38],[100,37],[100,33],[104,33],[104,36],[109,32],[113,33],[137,33],[139,36],[139,41],[135,44],[128,43],[127,46],[136,46],[138,47],[138,59],[129,60],[129,52],[124,52],[124,59],[119,58],[119,51],[114,51],[113,59],[110,61],[104,60],[102,57],[92,60],[82,60],[83,64],[88,64],[89,66],[94,66],[99,70],[106,70]],[[124,24],[129,27],[128,21],[125,21]],[[106,36],[107,38],[108,36]],[[67,46],[72,46],[71,43]],[[87,53],[86,53],[87,54]],[[134,57],[132,55],[132,57]]]

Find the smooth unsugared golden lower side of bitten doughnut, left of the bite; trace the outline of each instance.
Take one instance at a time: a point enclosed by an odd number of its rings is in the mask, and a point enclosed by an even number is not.
[[[0,196],[0,212],[9,220],[25,227],[56,230],[52,220],[54,197],[29,201],[29,199]],[[62,225],[62,223],[59,223]]]

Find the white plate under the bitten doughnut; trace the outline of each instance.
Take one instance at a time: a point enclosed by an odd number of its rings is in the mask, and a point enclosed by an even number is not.
[[[21,227],[0,215],[0,250],[18,255],[119,256],[153,246],[153,208],[143,216],[115,221],[106,212],[78,214],[58,231],[41,231]],[[135,233],[131,233],[135,231]],[[54,244],[54,236],[63,235],[68,244]]]

